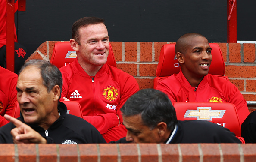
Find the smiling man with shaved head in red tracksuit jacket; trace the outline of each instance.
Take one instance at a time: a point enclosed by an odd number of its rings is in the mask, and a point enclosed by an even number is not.
[[[166,78],[156,87],[171,102],[230,102],[237,108],[240,124],[250,114],[238,88],[223,76],[208,74],[212,61],[208,40],[198,33],[181,36],[175,52],[181,71]]]

